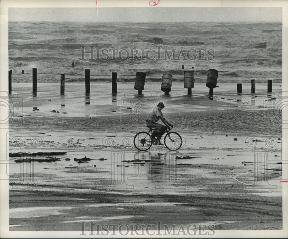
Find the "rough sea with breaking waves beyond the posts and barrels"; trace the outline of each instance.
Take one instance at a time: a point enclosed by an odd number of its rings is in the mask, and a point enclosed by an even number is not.
[[[92,57],[83,57],[89,46]],[[66,81],[84,80],[85,69],[91,80],[117,72],[118,80],[129,81],[138,71],[147,80],[161,80],[164,73],[183,80],[182,65],[194,66],[200,82],[211,68],[223,82],[282,82],[282,23],[9,22],[12,82],[30,82],[32,68],[39,82],[59,82],[60,74]]]

